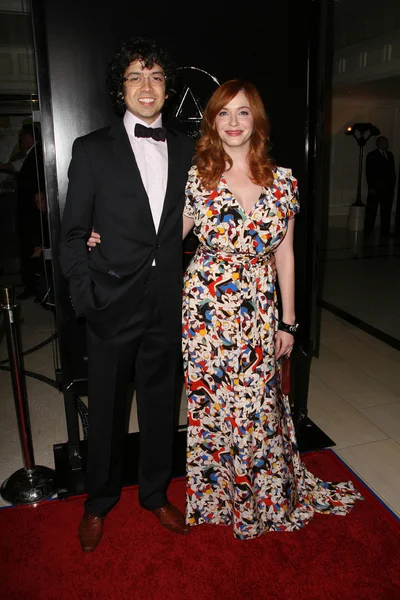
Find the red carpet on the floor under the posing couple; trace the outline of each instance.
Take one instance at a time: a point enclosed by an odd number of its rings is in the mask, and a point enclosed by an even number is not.
[[[222,526],[169,533],[129,488],[92,554],[76,535],[82,498],[1,510],[0,598],[399,600],[399,522],[331,451],[304,460],[325,480],[353,479],[365,500],[346,517],[315,515],[299,532],[243,542]],[[183,509],[184,482],[169,495]]]

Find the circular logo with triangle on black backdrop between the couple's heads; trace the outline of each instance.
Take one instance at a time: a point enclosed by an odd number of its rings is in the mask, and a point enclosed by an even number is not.
[[[191,138],[198,138],[204,107],[219,85],[218,79],[203,69],[180,67],[176,94],[168,106],[173,126]]]

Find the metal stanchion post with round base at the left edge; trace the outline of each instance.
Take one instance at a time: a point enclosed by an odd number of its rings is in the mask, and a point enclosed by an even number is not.
[[[12,287],[0,288],[0,307],[5,320],[11,381],[24,468],[6,479],[1,486],[1,496],[11,504],[32,504],[49,498],[57,490],[54,471],[48,467],[35,465],[20,344],[20,307],[15,304],[14,297]]]

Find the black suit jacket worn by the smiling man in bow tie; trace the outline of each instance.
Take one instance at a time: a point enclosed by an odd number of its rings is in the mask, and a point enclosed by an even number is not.
[[[77,315],[102,338],[123,330],[143,298],[154,258],[164,323],[171,338],[180,337],[182,211],[193,142],[167,130],[167,143],[168,183],[156,233],[123,122],[74,142],[60,262]],[[88,252],[92,226],[101,244]]]

